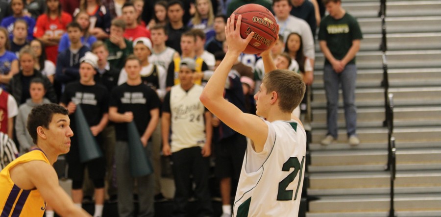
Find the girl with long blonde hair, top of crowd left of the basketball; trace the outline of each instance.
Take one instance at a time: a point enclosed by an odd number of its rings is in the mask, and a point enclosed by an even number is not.
[[[211,0],[196,0],[195,3],[196,13],[188,23],[188,26],[190,28],[203,30],[206,35],[205,38],[210,40],[213,36],[215,36],[215,31],[213,30],[214,12],[213,6],[211,5]]]

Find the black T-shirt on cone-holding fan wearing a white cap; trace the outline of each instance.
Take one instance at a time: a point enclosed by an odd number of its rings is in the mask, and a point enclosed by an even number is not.
[[[109,112],[109,92],[100,84],[86,86],[82,85],[79,81],[75,81],[66,85],[60,102],[68,105],[71,101],[77,104],[77,106],[81,106],[89,126],[98,125],[103,114]],[[70,119],[71,125],[74,125],[75,119],[73,114]]]

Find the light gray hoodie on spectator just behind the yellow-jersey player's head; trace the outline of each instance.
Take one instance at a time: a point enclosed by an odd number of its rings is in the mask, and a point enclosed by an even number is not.
[[[47,98],[44,98],[42,103],[34,103],[32,102],[32,99],[29,98],[26,100],[25,103],[20,105],[19,113],[15,120],[15,131],[17,135],[17,140],[20,144],[20,154],[26,153],[27,151],[29,151],[30,147],[34,145],[34,143],[32,142],[32,138],[26,129],[27,116],[34,107],[47,103],[50,103],[49,99]]]

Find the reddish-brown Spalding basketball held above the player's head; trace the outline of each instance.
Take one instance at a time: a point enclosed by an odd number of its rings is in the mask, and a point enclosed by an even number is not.
[[[242,15],[241,37],[246,38],[254,32],[253,39],[246,46],[244,53],[261,53],[275,42],[278,25],[274,16],[266,7],[259,4],[245,4],[234,12],[234,23],[236,24],[239,15]]]

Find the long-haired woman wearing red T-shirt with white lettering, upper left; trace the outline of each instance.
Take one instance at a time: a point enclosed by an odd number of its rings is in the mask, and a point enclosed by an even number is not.
[[[61,11],[60,0],[46,0],[48,9],[37,19],[34,37],[45,44],[48,60],[57,62],[58,43],[66,32],[66,26],[72,22],[72,16]]]

